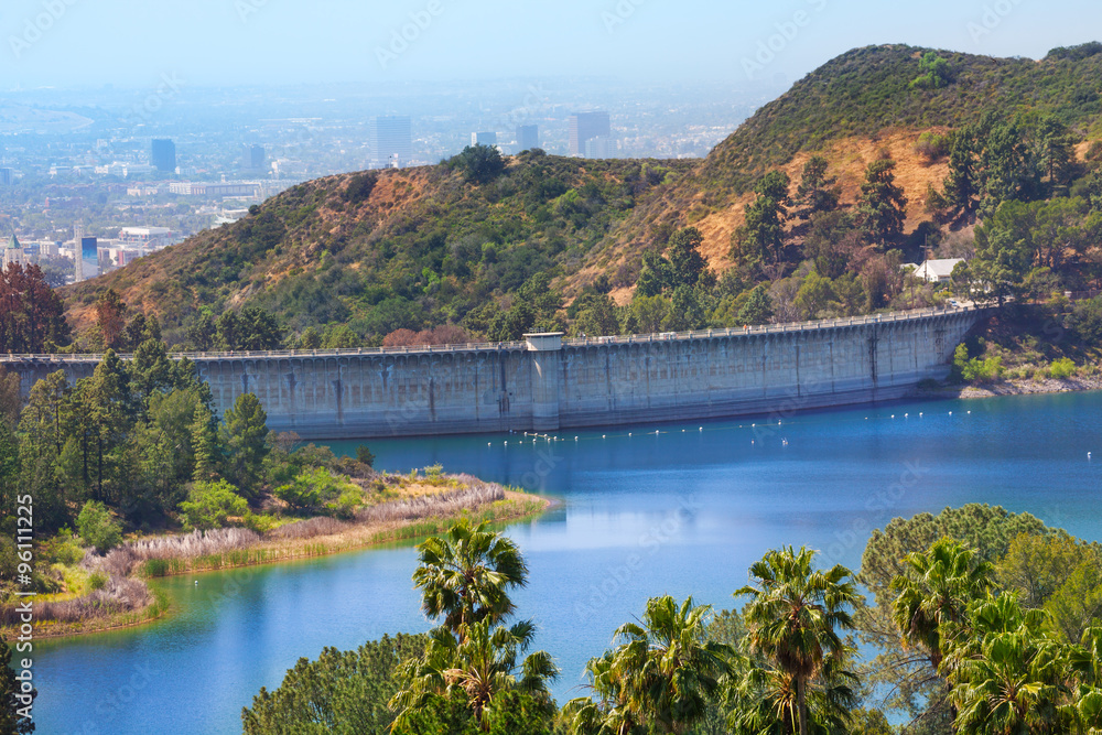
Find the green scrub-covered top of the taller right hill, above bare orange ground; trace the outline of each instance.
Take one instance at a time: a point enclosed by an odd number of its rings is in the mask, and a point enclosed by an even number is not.
[[[929,51],[866,46],[823,64],[716,145],[696,181],[741,193],[770,166],[830,140],[874,138],[892,128],[954,128],[986,111],[1055,114],[1084,136],[1102,114],[1102,44],[1057,48],[1040,61],[937,51],[948,62],[946,84],[915,84]]]

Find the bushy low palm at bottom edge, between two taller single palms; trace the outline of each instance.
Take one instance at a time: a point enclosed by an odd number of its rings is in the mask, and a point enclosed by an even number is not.
[[[613,651],[590,661],[593,690],[601,696],[572,700],[563,709],[573,733],[627,735],[647,724],[683,733],[707,713],[707,700],[730,672],[731,648],[706,640],[711,605],[692,597],[652,597],[639,623],[616,630]]]

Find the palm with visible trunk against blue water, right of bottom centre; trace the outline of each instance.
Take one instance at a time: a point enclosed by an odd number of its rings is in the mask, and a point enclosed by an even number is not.
[[[752,649],[795,684],[800,735],[809,735],[808,684],[850,655],[838,631],[853,629],[846,608],[857,601],[853,573],[841,564],[814,570],[814,555],[803,547],[770,551],[750,566],[758,586],[735,593],[750,596],[743,615]]]

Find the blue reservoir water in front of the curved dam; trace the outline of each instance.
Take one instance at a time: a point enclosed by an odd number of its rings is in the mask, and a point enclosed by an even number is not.
[[[970,501],[1102,540],[1102,393],[776,421],[597,430],[576,442],[569,432],[557,443],[494,435],[370,445],[378,467],[439,462],[562,500],[508,530],[531,566],[516,598],[562,667],[560,700],[579,694],[584,662],[647,597],[735,606],[747,566],[781,544],[809,544],[855,569],[873,528]],[[37,732],[240,732],[241,707],[300,657],[428,629],[410,583],[414,555],[404,545],[168,580],[168,619],[36,646]]]

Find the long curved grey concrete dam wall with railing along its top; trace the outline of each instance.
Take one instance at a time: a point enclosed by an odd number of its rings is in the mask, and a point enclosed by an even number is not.
[[[252,392],[305,440],[558,431],[787,414],[904,397],[943,378],[972,307],[630,337],[294,353],[191,353],[220,412]],[[22,389],[98,355],[8,355]]]

